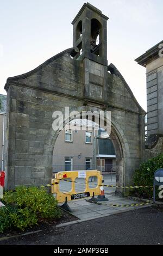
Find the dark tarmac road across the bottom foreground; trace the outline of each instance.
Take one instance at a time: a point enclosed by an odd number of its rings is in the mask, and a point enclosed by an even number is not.
[[[163,208],[143,209],[1,241],[0,245],[163,245]]]

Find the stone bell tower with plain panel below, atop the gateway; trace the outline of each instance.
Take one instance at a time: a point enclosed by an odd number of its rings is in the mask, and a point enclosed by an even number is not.
[[[105,101],[108,83],[107,20],[102,11],[85,3],[72,21],[74,59],[83,60],[84,98]]]

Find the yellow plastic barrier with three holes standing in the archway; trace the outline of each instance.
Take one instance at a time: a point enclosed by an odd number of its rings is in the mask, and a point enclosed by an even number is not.
[[[97,187],[90,188],[89,187],[89,178],[90,176],[97,177]],[[75,183],[77,178],[84,178],[85,182],[85,190],[82,192],[76,192],[75,190]],[[68,192],[61,192],[59,190],[59,182],[60,180],[64,179],[71,179],[72,188],[71,191]],[[59,203],[65,202],[66,197],[67,201],[71,201],[74,199],[80,199],[85,197],[92,197],[93,193],[94,196],[98,196],[100,194],[100,186],[102,184],[102,175],[101,172],[98,170],[73,170],[68,172],[59,172],[55,174],[55,179],[52,179],[52,193],[56,193],[57,200]]]

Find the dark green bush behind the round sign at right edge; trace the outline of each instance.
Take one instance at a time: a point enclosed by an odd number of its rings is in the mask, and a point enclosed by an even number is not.
[[[143,162],[134,174],[134,185],[153,186],[153,175],[155,170],[163,167],[163,154]],[[153,197],[153,188],[136,188],[136,195],[140,197]],[[158,199],[158,187],[156,187],[156,198]]]

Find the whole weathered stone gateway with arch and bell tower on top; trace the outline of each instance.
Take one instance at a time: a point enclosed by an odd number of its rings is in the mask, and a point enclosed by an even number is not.
[[[144,119],[128,84],[108,65],[108,17],[84,4],[72,21],[73,48],[26,74],[9,77],[7,90],[7,187],[51,182],[52,156],[59,131],[53,112],[111,111],[116,184],[129,185],[144,153]],[[64,123],[65,125],[65,123]]]

